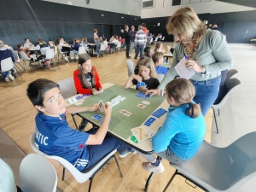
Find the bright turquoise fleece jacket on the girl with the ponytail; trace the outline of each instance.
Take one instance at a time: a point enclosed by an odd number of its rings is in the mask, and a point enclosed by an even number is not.
[[[206,123],[202,114],[193,119],[186,115],[189,104],[170,107],[166,120],[152,138],[155,153],[171,148],[183,160],[195,156],[206,134]]]

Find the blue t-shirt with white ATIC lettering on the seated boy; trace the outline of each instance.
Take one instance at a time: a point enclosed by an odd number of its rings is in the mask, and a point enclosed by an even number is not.
[[[73,130],[67,124],[65,113],[60,117],[37,114],[35,143],[45,154],[60,156],[83,171],[90,160],[88,147],[84,144],[89,134]]]

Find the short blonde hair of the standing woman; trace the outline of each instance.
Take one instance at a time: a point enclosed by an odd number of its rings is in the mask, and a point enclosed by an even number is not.
[[[199,20],[195,10],[189,7],[178,9],[166,24],[169,34],[183,34],[193,39],[205,31],[204,23]]]

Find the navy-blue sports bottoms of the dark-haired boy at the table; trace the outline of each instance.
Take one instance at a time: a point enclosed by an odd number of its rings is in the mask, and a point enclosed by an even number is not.
[[[87,132],[89,134],[94,135],[94,134],[96,134],[96,131],[98,131],[98,129],[91,129],[90,131],[87,131]],[[98,160],[101,160],[104,156],[106,156],[106,154],[113,151],[113,149],[115,149],[115,148],[119,152],[123,152],[127,148],[127,145],[125,143],[122,143],[121,141],[119,141],[117,138],[108,135],[108,133],[107,133],[106,137],[104,138],[102,144],[88,145],[88,149],[89,149],[89,153],[90,153],[90,160],[84,170],[86,170],[86,169],[90,168],[90,166],[93,166],[94,164],[96,164],[96,162]]]

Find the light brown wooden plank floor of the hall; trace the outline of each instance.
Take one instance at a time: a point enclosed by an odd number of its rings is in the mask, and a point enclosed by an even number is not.
[[[166,48],[165,44],[165,48]],[[131,58],[134,57],[134,52]],[[112,55],[92,58],[92,64],[96,67],[99,73],[101,83],[124,84],[128,79],[127,67],[125,64],[125,51],[115,53]],[[137,61],[135,61],[137,62]],[[42,71],[39,68],[30,70],[27,68],[27,73],[22,73],[22,78],[17,77],[15,81],[0,83],[0,120],[1,127],[9,137],[11,137],[26,154],[34,153],[29,144],[29,139],[34,132],[34,118],[37,110],[33,108],[32,103],[26,96],[26,88],[29,83],[35,79],[51,79],[58,82],[61,79],[73,77],[73,71],[78,67],[77,63],[66,61],[60,64],[61,69],[54,67],[49,70]],[[71,117],[68,116],[69,124],[74,127]],[[207,141],[211,140],[211,126],[212,126],[212,111],[207,115]],[[88,125],[89,126],[89,125]],[[118,156],[118,155],[117,155]],[[145,172],[141,166],[144,161],[138,154],[129,154],[125,159],[120,159],[119,164],[124,177],[119,176],[117,166],[111,160],[111,166],[105,172],[99,172],[92,184],[92,192],[104,191],[144,191],[144,184],[148,178],[149,172]],[[58,174],[58,187],[67,191],[87,191],[89,182],[78,183],[73,176],[67,172],[65,181],[61,181],[62,167],[51,160]],[[149,185],[148,191],[162,191],[166,183],[169,181],[174,169],[169,166],[166,160],[163,161],[166,171],[163,173],[156,173]],[[199,188],[192,188],[184,183],[184,179],[179,179],[177,176],[168,191],[201,191]]]

